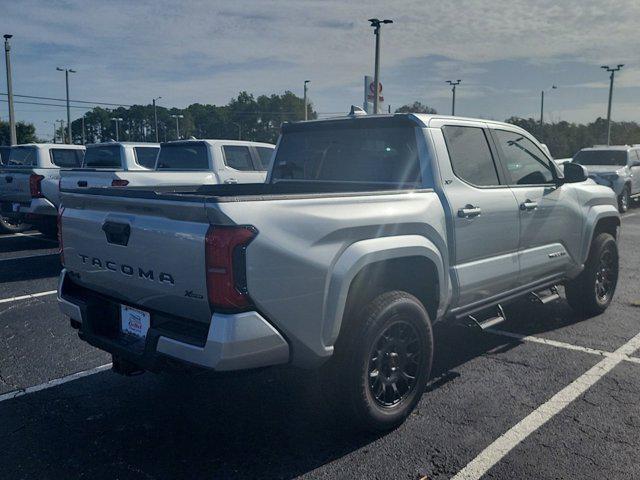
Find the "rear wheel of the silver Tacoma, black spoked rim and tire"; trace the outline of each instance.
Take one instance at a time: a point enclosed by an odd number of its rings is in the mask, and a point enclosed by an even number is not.
[[[331,403],[356,427],[399,426],[425,390],[433,332],[422,303],[406,292],[383,293],[346,325],[323,372]]]

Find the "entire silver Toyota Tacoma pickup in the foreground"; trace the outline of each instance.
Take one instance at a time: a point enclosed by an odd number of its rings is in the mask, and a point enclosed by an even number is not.
[[[434,323],[488,328],[559,285],[607,308],[620,219],[586,178],[504,123],[284,124],[265,184],[63,191],[58,301],[121,373],[315,368],[350,418],[389,429],[424,391]]]

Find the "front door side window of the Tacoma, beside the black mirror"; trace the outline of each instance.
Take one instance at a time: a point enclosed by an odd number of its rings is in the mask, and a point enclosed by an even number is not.
[[[551,160],[531,140],[506,130],[494,130],[510,185],[546,185],[554,182]]]

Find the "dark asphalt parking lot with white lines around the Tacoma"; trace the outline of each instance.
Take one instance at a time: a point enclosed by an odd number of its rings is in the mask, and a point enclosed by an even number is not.
[[[2,236],[0,477],[638,478],[639,209],[620,252],[601,316],[522,301],[494,332],[439,328],[418,408],[372,436],[340,425],[306,372],[112,373],[58,311],[56,245]]]

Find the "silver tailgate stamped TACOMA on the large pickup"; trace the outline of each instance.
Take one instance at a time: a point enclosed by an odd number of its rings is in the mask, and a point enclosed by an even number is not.
[[[202,200],[64,193],[62,202],[64,263],[74,282],[143,310],[210,321]]]

